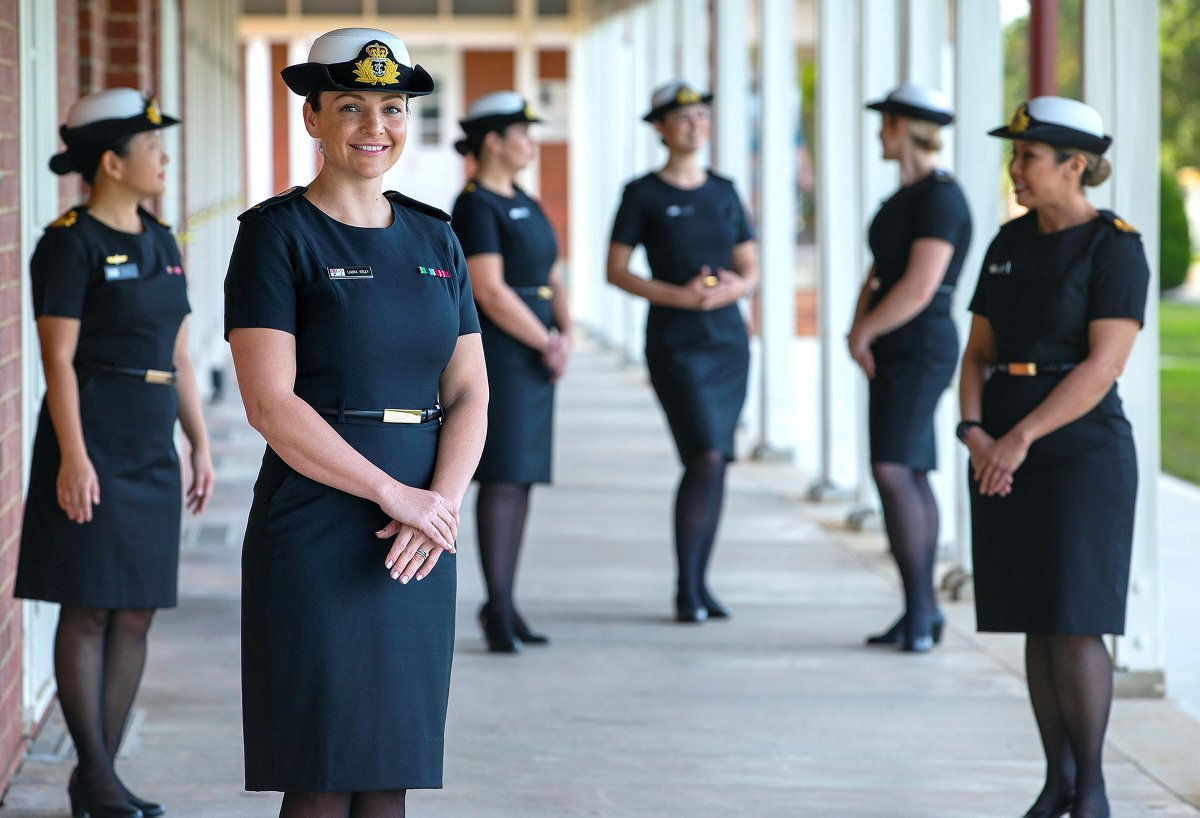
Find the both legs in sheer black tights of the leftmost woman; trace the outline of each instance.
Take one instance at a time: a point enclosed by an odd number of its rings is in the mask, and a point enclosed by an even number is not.
[[[142,684],[152,609],[62,606],[54,638],[59,704],[79,756],[77,787],[96,804],[130,796],[113,762]]]

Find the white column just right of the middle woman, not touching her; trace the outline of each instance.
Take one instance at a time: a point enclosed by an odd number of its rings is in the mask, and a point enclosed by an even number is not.
[[[761,368],[760,453],[790,452],[792,338],[796,335],[796,86],[793,0],[758,6],[758,337]]]

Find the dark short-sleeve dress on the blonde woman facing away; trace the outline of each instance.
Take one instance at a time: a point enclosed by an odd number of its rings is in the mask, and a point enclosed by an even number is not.
[[[871,462],[902,463],[928,471],[937,467],[934,410],[959,361],[950,302],[971,245],[971,211],[954,178],[935,170],[884,202],[868,237],[875,259],[871,308],[904,277],[914,241],[942,239],[954,246],[934,300],[871,345]]]

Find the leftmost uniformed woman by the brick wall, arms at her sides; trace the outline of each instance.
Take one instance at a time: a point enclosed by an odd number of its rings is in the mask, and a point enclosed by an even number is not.
[[[71,811],[160,816],[113,769],[157,608],[179,579],[178,419],[191,444],[187,506],[212,461],[187,354],[187,281],[169,228],[138,206],[163,192],[160,128],[179,120],[119,88],[76,102],[58,174],[86,204],[52,223],[30,261],[46,399],[34,440],[16,595],[59,602],[54,670],[79,766]]]

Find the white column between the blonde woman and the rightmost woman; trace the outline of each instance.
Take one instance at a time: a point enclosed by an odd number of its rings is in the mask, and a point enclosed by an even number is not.
[[[955,0],[954,65],[954,166],[959,185],[971,209],[971,249],[959,273],[950,314],[959,326],[959,341],[966,343],[971,329],[967,305],[979,279],[984,252],[1000,224],[1000,187],[996,173],[1001,167],[1004,143],[988,131],[1006,121],[1003,112],[1003,31],[1000,24],[1000,0]],[[943,399],[953,420],[958,420],[958,375]],[[942,440],[938,440],[942,446]],[[941,470],[954,481],[953,503],[942,504],[942,530],[954,539],[961,575],[971,573],[971,507],[967,497],[967,458],[958,440],[940,450]]]

